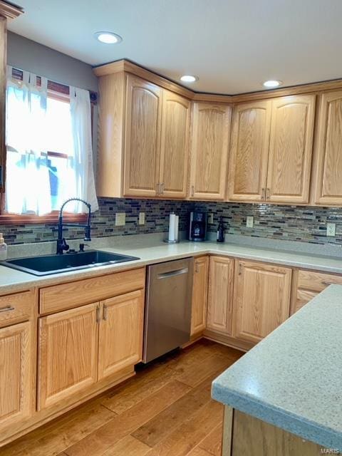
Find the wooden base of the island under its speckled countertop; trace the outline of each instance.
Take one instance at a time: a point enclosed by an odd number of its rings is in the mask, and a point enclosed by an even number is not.
[[[318,456],[324,450],[329,452],[251,415],[224,408],[222,456]]]

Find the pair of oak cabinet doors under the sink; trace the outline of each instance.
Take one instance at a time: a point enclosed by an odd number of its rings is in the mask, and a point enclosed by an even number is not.
[[[82,395],[142,356],[143,291],[38,320],[38,410]]]

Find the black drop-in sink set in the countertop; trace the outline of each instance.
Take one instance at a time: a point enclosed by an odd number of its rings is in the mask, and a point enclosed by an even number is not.
[[[125,261],[140,259],[128,255],[112,254],[101,250],[88,250],[87,252],[75,252],[63,255],[41,255],[40,257],[28,257],[0,261],[1,266],[7,266],[19,271],[28,272],[35,276],[47,276],[59,272],[88,269],[105,264],[117,264]]]

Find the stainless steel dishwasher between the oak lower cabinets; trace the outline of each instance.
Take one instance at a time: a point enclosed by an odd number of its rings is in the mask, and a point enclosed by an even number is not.
[[[147,267],[143,362],[190,341],[194,259]]]

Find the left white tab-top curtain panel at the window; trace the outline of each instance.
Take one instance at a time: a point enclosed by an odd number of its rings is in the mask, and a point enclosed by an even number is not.
[[[7,212],[43,215],[51,212],[45,136],[48,81],[24,71],[23,81],[11,77],[6,91]],[[43,155],[42,155],[43,154]]]

